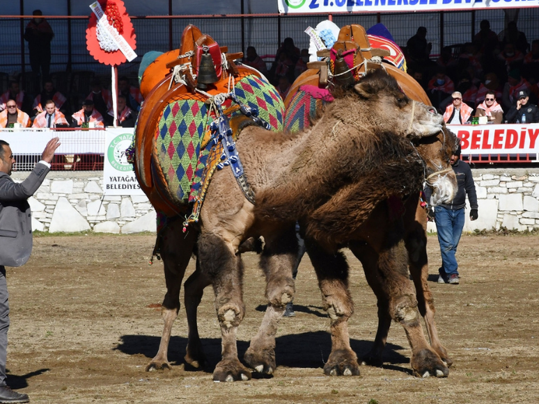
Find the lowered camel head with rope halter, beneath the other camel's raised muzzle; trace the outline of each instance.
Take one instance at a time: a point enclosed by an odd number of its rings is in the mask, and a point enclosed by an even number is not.
[[[432,197],[428,201],[431,206],[449,203],[457,195],[457,177],[449,159],[456,152],[459,141],[444,125],[437,134],[412,143],[425,165],[425,183],[432,188]]]

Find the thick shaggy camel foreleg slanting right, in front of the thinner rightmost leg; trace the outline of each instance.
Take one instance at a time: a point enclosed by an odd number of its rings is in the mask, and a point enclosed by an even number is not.
[[[419,323],[417,300],[408,277],[404,243],[391,243],[389,248],[380,250],[378,268],[382,290],[389,296],[389,314],[393,320],[403,325],[412,348],[410,364],[414,373],[423,377],[446,377],[449,369],[428,344]]]

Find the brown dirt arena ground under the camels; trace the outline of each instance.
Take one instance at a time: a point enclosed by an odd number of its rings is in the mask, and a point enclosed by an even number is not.
[[[216,383],[220,332],[207,289],[199,309],[209,364],[185,371],[185,313],[173,328],[172,371],[146,372],[162,333],[162,262],[148,266],[153,235],[38,236],[20,268],[8,268],[11,326],[8,383],[32,403],[538,403],[539,236],[463,236],[461,283],[437,284],[440,257],[429,236],[430,286],[448,378],[412,377],[404,330],[393,324],[384,366],[359,377],[328,377],[329,320],[310,262],[299,267],[295,318],[283,318],[273,378]],[[247,316],[240,358],[260,325],[264,282],[256,254],[244,254]],[[361,264],[354,270],[352,348],[361,357],[376,330],[376,302]],[[189,265],[187,275],[194,270]]]

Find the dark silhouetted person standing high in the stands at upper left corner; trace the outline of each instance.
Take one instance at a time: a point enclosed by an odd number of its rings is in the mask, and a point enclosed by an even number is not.
[[[51,66],[51,41],[54,32],[41,10],[33,10],[33,19],[26,25],[24,39],[28,42],[30,65],[32,67],[33,88],[40,88],[40,79],[48,80]]]

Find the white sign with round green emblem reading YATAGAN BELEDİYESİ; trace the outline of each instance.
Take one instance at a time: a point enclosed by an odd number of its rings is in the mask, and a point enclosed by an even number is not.
[[[107,128],[103,164],[103,195],[145,195],[136,180],[125,150],[130,147],[133,128]]]

